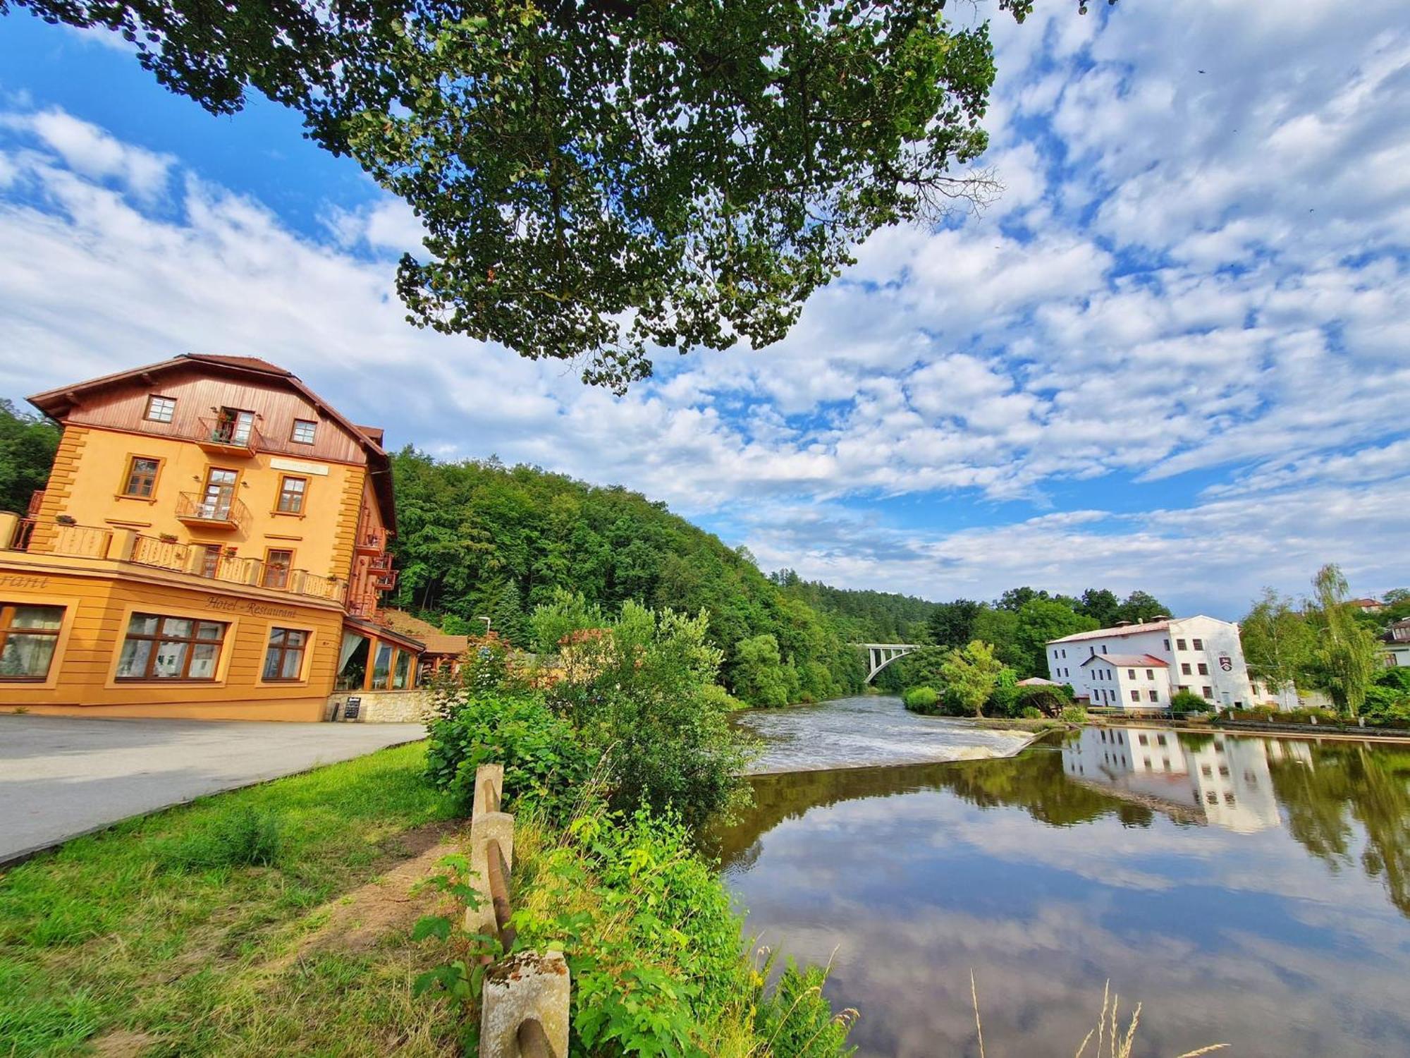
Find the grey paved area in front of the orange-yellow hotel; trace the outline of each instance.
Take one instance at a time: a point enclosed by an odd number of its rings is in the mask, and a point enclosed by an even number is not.
[[[424,736],[420,724],[0,714],[0,863],[130,815]]]

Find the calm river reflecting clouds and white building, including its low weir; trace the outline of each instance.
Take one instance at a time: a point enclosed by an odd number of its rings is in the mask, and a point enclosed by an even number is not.
[[[866,1058],[977,1055],[970,971],[991,1058],[1070,1058],[1107,980],[1136,1055],[1410,1055],[1410,746],[1128,726],[893,763],[993,732],[895,698],[743,722],[766,767],[887,762],[757,774],[716,835],[750,932],[832,959]]]

